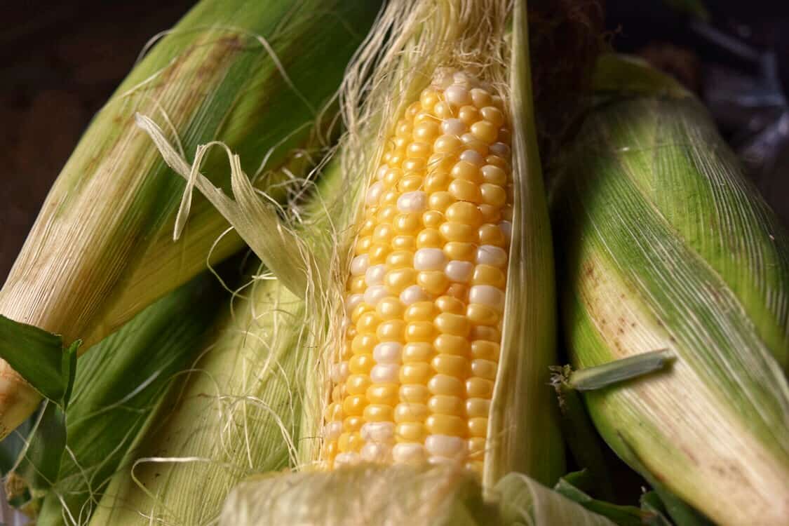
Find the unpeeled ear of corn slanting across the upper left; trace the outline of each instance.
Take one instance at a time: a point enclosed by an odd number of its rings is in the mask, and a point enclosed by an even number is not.
[[[257,176],[309,136],[361,39],[354,31],[364,31],[376,9],[375,2],[200,2],[83,136],[0,292],[0,314],[62,334],[66,344],[90,338],[87,349],[203,269],[227,223],[200,198],[191,207],[199,222],[185,225],[178,244],[166,241],[184,185],[134,114],[159,122],[185,155],[222,140]],[[222,155],[204,167],[228,187]],[[238,237],[226,237],[214,259],[240,247]],[[4,362],[0,376],[3,436],[38,397]]]

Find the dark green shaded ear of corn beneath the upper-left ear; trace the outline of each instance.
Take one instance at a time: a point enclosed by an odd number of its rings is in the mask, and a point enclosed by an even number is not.
[[[59,462],[45,466],[24,455],[11,475],[23,476],[34,500],[48,491],[36,524],[87,523],[107,480],[173,375],[196,357],[215,313],[210,305],[222,297],[218,289],[210,275],[182,285],[80,360]],[[118,382],[119,377],[124,382]],[[39,429],[30,437],[31,449],[47,439],[41,435],[45,432]],[[43,479],[44,473],[56,479]]]

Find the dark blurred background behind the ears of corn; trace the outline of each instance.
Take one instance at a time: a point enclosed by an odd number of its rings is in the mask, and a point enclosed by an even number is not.
[[[667,9],[661,0],[606,3],[606,25],[618,50],[645,56],[708,102],[711,86],[720,85],[721,70],[758,76],[753,64],[710,45],[685,15]],[[789,86],[789,2],[706,3],[714,27],[757,50],[775,50],[780,83]],[[0,0],[0,282],[92,115],[129,72],[148,39],[170,28],[192,4]],[[715,111],[724,135],[740,150],[751,139],[742,130],[754,125],[753,115],[741,110],[719,104]],[[783,110],[785,103],[783,109],[768,107],[757,114],[756,125],[765,125]],[[789,176],[784,175],[789,173],[789,147],[771,161],[769,170],[763,164],[752,168],[752,178],[789,222]]]

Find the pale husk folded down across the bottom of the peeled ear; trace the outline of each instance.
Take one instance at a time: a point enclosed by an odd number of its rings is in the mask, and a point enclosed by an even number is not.
[[[334,472],[272,474],[240,483],[227,498],[219,524],[614,524],[521,474],[505,476],[491,493],[484,502],[479,480],[451,466],[362,465]]]

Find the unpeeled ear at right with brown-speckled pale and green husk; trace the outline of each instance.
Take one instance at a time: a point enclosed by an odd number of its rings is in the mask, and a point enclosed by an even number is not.
[[[720,524],[786,523],[787,233],[693,99],[614,97],[579,137],[553,203],[574,364],[676,356],[586,395],[600,433]]]

